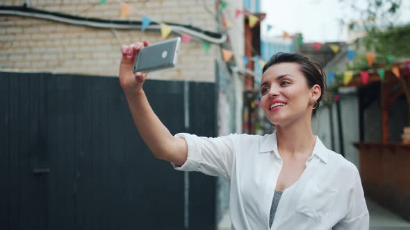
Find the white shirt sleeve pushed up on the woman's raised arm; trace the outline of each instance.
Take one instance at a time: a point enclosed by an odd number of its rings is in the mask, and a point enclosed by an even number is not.
[[[188,157],[182,166],[174,166],[181,171],[198,171],[206,175],[231,178],[234,161],[234,139],[238,134],[220,137],[199,137],[194,134],[180,133],[175,136],[185,139]]]

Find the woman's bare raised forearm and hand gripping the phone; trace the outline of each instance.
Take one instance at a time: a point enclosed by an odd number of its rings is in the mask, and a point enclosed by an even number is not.
[[[142,89],[147,73],[133,73],[136,54],[148,45],[149,42],[145,41],[122,46],[120,84],[128,101],[134,124],[149,150],[157,159],[164,159],[181,166],[188,155],[186,141],[173,136],[151,109]]]

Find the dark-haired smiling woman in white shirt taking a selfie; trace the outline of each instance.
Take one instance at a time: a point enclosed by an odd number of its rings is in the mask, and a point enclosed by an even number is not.
[[[263,68],[261,107],[275,132],[218,138],[172,136],[133,73],[136,53],[149,42],[122,47],[120,84],[133,121],[158,159],[177,170],[227,177],[232,229],[368,229],[357,168],[314,136],[311,117],[325,91],[319,64],[290,53]]]

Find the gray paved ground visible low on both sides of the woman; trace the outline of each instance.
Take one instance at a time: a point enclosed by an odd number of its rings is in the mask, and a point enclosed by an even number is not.
[[[366,203],[370,213],[370,230],[410,230],[410,222],[384,209],[370,199],[366,199]],[[230,229],[231,220],[227,212],[218,224],[218,230]]]

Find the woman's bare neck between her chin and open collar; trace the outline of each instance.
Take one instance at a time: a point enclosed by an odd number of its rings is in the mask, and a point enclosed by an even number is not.
[[[290,125],[277,126],[278,151],[284,159],[309,158],[315,145],[311,118],[300,118]]]

